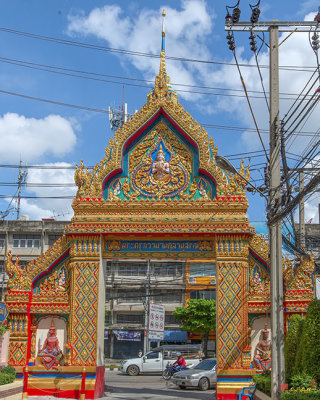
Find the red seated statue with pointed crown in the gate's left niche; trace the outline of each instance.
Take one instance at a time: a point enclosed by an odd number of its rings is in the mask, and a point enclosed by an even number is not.
[[[38,357],[41,359],[41,363],[47,369],[58,369],[58,365],[63,358],[63,353],[59,347],[59,340],[56,336],[56,328],[51,321],[49,328],[48,337],[46,338],[42,348],[39,349]]]

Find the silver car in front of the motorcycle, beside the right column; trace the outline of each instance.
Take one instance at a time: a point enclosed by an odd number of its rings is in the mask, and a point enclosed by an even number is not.
[[[192,369],[176,372],[173,375],[172,382],[181,389],[193,386],[200,390],[208,390],[216,386],[216,366],[217,360],[215,358],[207,358]]]

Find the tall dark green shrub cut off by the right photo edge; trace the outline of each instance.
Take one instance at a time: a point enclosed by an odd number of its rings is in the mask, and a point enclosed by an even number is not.
[[[302,340],[302,371],[320,383],[320,300],[314,299],[304,321]]]

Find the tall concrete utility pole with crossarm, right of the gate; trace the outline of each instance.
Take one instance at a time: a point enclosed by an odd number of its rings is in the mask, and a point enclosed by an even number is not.
[[[254,11],[254,10],[253,10]],[[260,11],[259,11],[260,14]],[[259,15],[258,14],[258,15]],[[228,17],[228,16],[227,16]],[[272,399],[281,395],[281,384],[285,382],[284,366],[284,320],[282,277],[282,214],[287,214],[294,201],[281,211],[281,166],[279,136],[279,32],[310,32],[320,30],[316,21],[266,21],[232,23],[226,18],[226,31],[270,33],[270,190],[269,190],[269,237],[271,260],[271,330],[272,330]],[[253,22],[254,21],[254,22]],[[313,184],[314,182],[312,182]],[[298,199],[298,198],[297,198]],[[297,200],[295,199],[295,200]],[[289,210],[289,211],[288,211]]]

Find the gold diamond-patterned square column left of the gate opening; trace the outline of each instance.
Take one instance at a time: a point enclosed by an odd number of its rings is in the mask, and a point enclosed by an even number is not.
[[[100,252],[100,235],[73,237],[68,343],[72,367],[95,367],[94,393],[86,389],[88,398],[104,395],[105,279]]]

